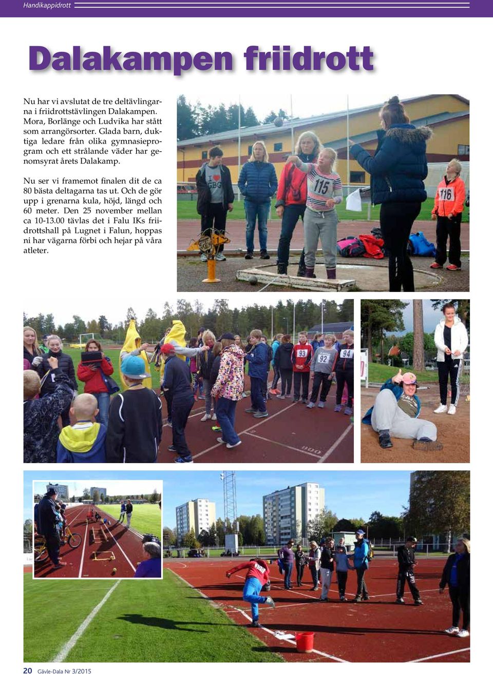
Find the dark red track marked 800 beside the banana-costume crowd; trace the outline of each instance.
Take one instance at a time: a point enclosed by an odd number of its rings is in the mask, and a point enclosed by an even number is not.
[[[245,375],[245,390],[250,389],[250,379]],[[310,385],[311,392],[311,385]],[[292,391],[291,391],[292,393]],[[167,417],[164,398],[163,419]],[[353,423],[343,412],[334,412],[335,385],[330,387],[323,409],[307,409],[293,398],[267,401],[269,417],[254,419],[244,410],[250,407],[250,396],[238,401],[235,428],[241,445],[228,450],[218,442],[221,433],[212,431],[214,421],[200,421],[205,414],[204,400],[197,400],[185,429],[187,445],[194,462],[224,463],[352,463]],[[172,463],[176,454],[168,451],[172,442],[169,426],[163,427],[158,462]]]

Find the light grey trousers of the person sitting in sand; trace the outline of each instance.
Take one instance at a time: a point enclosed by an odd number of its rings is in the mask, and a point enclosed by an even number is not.
[[[413,419],[397,405],[395,395],[390,389],[380,391],[376,396],[372,411],[372,427],[374,431],[388,429],[393,437],[419,439],[428,437],[436,440],[436,426],[431,421]]]

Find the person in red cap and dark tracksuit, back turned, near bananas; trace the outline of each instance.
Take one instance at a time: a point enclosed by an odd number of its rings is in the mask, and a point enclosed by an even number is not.
[[[171,406],[173,444],[168,449],[170,452],[177,452],[175,463],[193,463],[194,460],[185,439],[185,426],[195,402],[194,392],[190,385],[190,370],[184,361],[175,355],[173,344],[163,344],[161,352],[167,357],[163,389],[171,391],[173,397]]]

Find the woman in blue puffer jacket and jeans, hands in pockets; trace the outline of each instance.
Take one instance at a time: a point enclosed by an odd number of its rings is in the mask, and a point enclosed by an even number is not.
[[[267,220],[270,213],[270,198],[277,192],[277,175],[268,160],[267,149],[261,140],[254,143],[252,155],[241,168],[238,179],[239,191],[245,197],[246,247],[245,259],[254,257],[254,231],[258,221],[260,257],[267,254]]]

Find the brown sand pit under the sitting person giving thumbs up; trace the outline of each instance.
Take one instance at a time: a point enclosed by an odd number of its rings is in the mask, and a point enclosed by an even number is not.
[[[469,463],[469,402],[461,395],[455,415],[434,414],[440,403],[438,384],[427,384],[419,388],[417,396],[421,400],[420,417],[432,421],[438,429],[438,442],[443,449],[438,452],[413,450],[412,440],[392,438],[393,448],[382,450],[378,444],[378,434],[371,426],[361,424],[361,462],[363,463]],[[373,406],[379,393],[378,388],[361,388],[361,419]],[[449,398],[450,402],[450,398]]]

